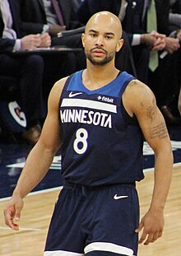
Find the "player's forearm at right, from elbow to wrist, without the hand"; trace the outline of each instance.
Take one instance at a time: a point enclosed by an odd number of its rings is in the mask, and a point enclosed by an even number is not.
[[[151,209],[164,210],[169,193],[173,169],[172,151],[161,151],[155,154],[155,183],[151,200]]]

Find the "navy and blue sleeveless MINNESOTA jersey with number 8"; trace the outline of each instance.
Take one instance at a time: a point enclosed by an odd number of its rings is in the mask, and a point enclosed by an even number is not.
[[[59,101],[63,178],[94,187],[143,179],[142,131],[123,117],[123,91],[135,77],[121,72],[94,91],[81,77],[82,71],[67,78]]]

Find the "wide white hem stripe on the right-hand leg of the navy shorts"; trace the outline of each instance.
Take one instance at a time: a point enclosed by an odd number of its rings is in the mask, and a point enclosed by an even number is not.
[[[128,256],[133,256],[133,250],[127,247],[123,247],[117,244],[106,243],[106,242],[95,242],[88,244],[84,249],[85,254],[92,251],[106,251],[114,254],[123,254]]]

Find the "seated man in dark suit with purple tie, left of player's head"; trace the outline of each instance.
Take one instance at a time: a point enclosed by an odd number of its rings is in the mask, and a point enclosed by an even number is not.
[[[16,0],[16,2],[21,4],[21,35],[48,32],[52,38],[52,46],[66,45],[70,48],[82,48],[81,31],[58,37],[59,32],[83,27],[75,12],[78,2],[59,0],[56,7],[51,0]],[[83,49],[76,54],[76,58],[77,69],[86,67]]]

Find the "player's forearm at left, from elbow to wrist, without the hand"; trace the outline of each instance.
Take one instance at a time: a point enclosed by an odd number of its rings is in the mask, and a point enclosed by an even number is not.
[[[27,157],[26,165],[21,172],[13,195],[25,198],[47,174],[53,156],[53,151],[46,150],[37,143]]]

